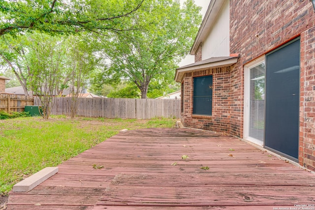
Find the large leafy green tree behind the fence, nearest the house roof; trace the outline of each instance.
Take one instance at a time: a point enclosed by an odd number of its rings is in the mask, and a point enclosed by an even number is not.
[[[184,7],[178,0],[147,0],[137,11],[140,30],[125,31],[120,36],[103,39],[111,65],[105,75],[109,79],[132,81],[147,98],[152,80],[173,80],[177,63],[193,43],[201,23],[200,7],[187,0]]]

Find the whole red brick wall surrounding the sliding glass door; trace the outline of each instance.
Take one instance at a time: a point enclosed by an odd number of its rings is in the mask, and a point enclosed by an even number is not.
[[[315,12],[309,0],[230,1],[231,134],[243,134],[244,65],[301,38],[299,163],[315,171]],[[239,135],[238,135],[239,134]]]

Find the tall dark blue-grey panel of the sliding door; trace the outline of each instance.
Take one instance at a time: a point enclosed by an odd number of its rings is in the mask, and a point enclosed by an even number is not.
[[[295,161],[299,149],[300,39],[266,56],[265,147]]]

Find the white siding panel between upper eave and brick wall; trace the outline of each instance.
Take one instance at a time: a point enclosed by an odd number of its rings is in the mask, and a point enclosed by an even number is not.
[[[226,0],[202,46],[202,60],[230,55],[230,2]]]

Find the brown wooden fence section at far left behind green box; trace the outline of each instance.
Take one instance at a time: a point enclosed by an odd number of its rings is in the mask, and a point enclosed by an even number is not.
[[[32,96],[0,94],[0,110],[5,112],[23,112],[25,106],[34,105]]]

